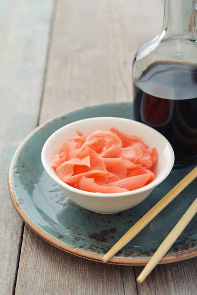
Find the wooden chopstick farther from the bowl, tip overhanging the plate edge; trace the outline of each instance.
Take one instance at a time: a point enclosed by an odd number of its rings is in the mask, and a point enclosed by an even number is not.
[[[183,217],[175,225],[173,230],[169,233],[168,236],[164,239],[162,244],[159,246],[155,254],[152,256],[151,260],[144,267],[142,272],[137,278],[138,283],[142,283],[147,275],[153,270],[153,268],[160,262],[165,253],[169,250],[175,240],[180,236],[188,223],[192,220],[194,215],[197,213],[197,199],[192,203],[189,209],[185,212]]]

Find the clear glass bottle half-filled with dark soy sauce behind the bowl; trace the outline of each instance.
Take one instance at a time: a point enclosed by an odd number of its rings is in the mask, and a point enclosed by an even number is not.
[[[134,119],[161,132],[175,165],[197,158],[197,0],[165,0],[162,32],[137,51]]]

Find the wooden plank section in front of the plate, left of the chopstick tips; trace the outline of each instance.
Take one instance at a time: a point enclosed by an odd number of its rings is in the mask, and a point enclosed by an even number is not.
[[[124,295],[121,266],[68,254],[26,226],[15,294]]]

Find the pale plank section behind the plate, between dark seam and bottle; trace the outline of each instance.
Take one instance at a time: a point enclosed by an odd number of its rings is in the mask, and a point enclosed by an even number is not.
[[[132,59],[162,28],[163,7],[160,0],[59,0],[40,122],[130,101]]]

